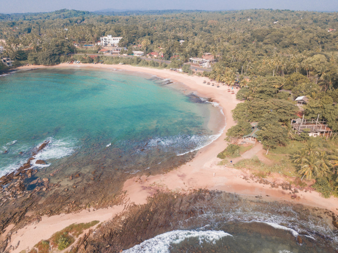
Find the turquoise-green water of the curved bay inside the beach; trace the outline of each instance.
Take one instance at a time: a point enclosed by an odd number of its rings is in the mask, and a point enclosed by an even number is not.
[[[0,175],[22,165],[45,140],[50,145],[35,158],[53,164],[74,152],[96,154],[110,143],[125,154],[147,156],[161,147],[172,156],[216,137],[219,129],[207,123],[219,108],[193,103],[163,80],[139,75],[55,68],[0,77],[0,149],[8,151],[0,156]],[[150,160],[142,166],[150,167]]]

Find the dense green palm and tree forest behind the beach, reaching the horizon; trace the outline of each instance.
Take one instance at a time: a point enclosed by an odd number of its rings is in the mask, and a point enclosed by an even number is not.
[[[337,29],[337,31],[336,31]],[[239,84],[233,110],[238,125],[229,129],[228,140],[248,131],[258,121],[259,140],[267,150],[301,144],[291,160],[303,179],[317,178],[325,196],[337,194],[337,140],[295,134],[290,119],[299,107],[291,97],[306,95],[306,118],[323,118],[338,132],[338,13],[251,9],[236,11],[125,11],[87,12],[58,10],[46,13],[0,15],[4,52],[14,66],[54,65],[74,57],[73,42],[88,44],[101,36],[121,36],[120,46],[131,51],[141,44],[145,53],[162,52],[180,67],[190,57],[209,52],[218,60],[211,72],[215,81]],[[185,42],[181,45],[180,40]],[[92,53],[100,48],[93,46]],[[78,49],[81,51],[81,49]],[[92,58],[80,57],[83,62]],[[178,60],[179,59],[179,60]],[[97,56],[106,64],[121,59]],[[139,58],[127,64],[166,68],[167,64]],[[188,71],[187,71],[188,72]],[[280,90],[288,92],[279,92]],[[290,95],[292,93],[292,95]]]

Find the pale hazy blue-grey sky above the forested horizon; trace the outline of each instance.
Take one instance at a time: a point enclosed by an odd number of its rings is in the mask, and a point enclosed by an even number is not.
[[[338,11],[338,0],[1,0],[0,13],[42,12],[58,9],[199,9],[229,10],[272,8]]]

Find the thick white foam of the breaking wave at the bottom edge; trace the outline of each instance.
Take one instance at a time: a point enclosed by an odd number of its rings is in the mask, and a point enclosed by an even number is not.
[[[208,242],[215,243],[219,239],[225,236],[232,236],[224,231],[195,231],[195,230],[174,230],[166,232],[164,234],[157,235],[149,240],[142,242],[128,250],[124,250],[125,253],[169,253],[170,245],[179,244],[185,239],[198,238],[199,243]]]

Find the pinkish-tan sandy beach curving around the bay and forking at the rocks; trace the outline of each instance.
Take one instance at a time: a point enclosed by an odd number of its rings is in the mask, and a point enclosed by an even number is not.
[[[183,73],[175,73],[170,70],[159,70],[145,67],[134,67],[129,65],[93,65],[93,64],[60,64],[53,68],[110,68],[125,71],[137,71],[147,74],[156,75],[161,78],[169,78],[175,82],[182,82],[189,87],[188,90],[197,92],[200,97],[212,98],[214,102],[219,103],[223,108],[224,114],[224,131],[217,140],[206,147],[200,149],[196,157],[185,165],[172,170],[166,174],[154,176],[135,177],[124,183],[123,191],[126,191],[125,203],[120,206],[113,206],[107,209],[97,209],[95,211],[83,210],[79,213],[60,214],[57,216],[42,217],[39,223],[25,226],[25,228],[17,231],[11,236],[11,245],[19,246],[11,252],[20,252],[25,249],[31,249],[41,239],[48,239],[53,233],[62,230],[66,226],[73,223],[90,222],[98,220],[100,222],[111,219],[113,216],[125,210],[126,205],[132,203],[144,204],[147,198],[153,196],[156,191],[172,191],[177,194],[188,194],[195,189],[220,190],[240,195],[264,196],[266,201],[288,201],[291,203],[300,203],[314,207],[329,209],[334,213],[338,213],[337,198],[331,197],[324,199],[317,192],[299,192],[295,199],[290,198],[287,191],[279,188],[271,188],[269,185],[263,185],[243,180],[243,176],[247,176],[245,172],[230,167],[219,166],[221,159],[217,158],[217,154],[226,147],[224,141],[225,132],[228,128],[235,125],[231,110],[235,108],[240,101],[236,100],[235,94],[228,92],[228,86],[221,85],[219,88],[207,84],[203,81],[209,81],[207,77],[189,76]],[[24,66],[17,68],[18,70],[29,70],[35,68],[47,68],[46,66]],[[236,93],[236,89],[233,90]],[[2,234],[2,238],[13,227],[9,225],[6,232]],[[32,236],[34,234],[34,236]],[[2,239],[0,238],[0,239]]]

